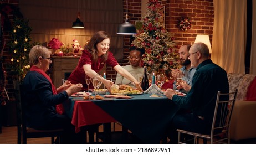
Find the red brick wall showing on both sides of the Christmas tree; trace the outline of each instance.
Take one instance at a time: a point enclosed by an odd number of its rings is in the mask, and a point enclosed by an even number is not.
[[[213,0],[159,0],[165,6],[165,24],[166,29],[175,37],[178,47],[183,44],[192,44],[197,34],[208,34],[212,42],[213,33]],[[128,15],[130,23],[135,24],[136,20],[141,20],[141,7],[146,7],[141,0],[128,1]],[[126,15],[126,0],[124,0],[124,16]],[[178,29],[177,23],[180,17],[192,19],[192,28],[183,32]],[[127,65],[127,56],[129,56],[130,36],[124,36],[124,60],[120,65]],[[107,79],[115,80],[116,71],[107,68]]]

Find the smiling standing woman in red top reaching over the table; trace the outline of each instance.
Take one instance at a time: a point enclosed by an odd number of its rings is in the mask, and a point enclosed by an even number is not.
[[[119,74],[126,77],[130,81],[134,82],[136,87],[140,87],[140,82],[138,82],[127,70],[122,68],[114,58],[113,54],[109,52],[110,45],[110,35],[104,31],[96,32],[93,37],[91,37],[90,42],[85,46],[83,54],[76,66],[75,70],[69,76],[69,81],[72,84],[83,84],[86,88],[85,74],[93,78],[93,75],[97,74],[105,64],[114,68]],[[111,85],[114,82],[104,79],[100,79],[106,86],[107,90],[111,92]]]

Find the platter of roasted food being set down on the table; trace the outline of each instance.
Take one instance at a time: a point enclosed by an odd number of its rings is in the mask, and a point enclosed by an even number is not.
[[[112,94],[141,94],[142,92],[137,89],[133,89],[128,85],[112,85]]]

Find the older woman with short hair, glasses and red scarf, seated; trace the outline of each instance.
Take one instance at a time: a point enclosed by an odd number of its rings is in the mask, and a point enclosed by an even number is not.
[[[52,63],[50,54],[51,51],[40,45],[33,46],[29,53],[29,63],[32,67],[25,75],[21,91],[25,103],[27,126],[37,130],[63,128],[61,143],[80,143],[80,133],[75,133],[71,120],[57,113],[55,106],[68,100],[71,94],[79,92],[82,85],[70,86],[70,81],[66,81],[56,89],[50,77],[45,73]]]

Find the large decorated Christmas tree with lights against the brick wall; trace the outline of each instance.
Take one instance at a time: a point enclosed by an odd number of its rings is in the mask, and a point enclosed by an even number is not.
[[[163,7],[157,0],[147,2],[147,14],[142,17],[142,22],[136,23],[138,33],[132,46],[145,48],[142,60],[149,73],[155,71],[168,76],[171,68],[176,69],[180,65],[177,44],[165,29],[162,10]]]

